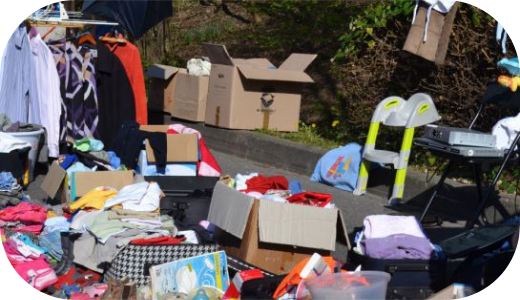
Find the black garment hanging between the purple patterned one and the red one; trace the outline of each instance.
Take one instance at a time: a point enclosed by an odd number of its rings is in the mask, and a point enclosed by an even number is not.
[[[99,97],[99,139],[111,145],[123,123],[135,120],[134,92],[125,68],[103,43],[97,44],[95,64]]]

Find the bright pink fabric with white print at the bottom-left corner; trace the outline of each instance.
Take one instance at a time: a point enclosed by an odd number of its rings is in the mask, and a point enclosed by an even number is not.
[[[58,282],[56,273],[43,258],[21,263],[15,266],[14,270],[37,291],[44,290]]]

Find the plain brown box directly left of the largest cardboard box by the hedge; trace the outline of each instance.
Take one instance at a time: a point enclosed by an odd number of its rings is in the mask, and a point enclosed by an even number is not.
[[[209,77],[194,76],[185,72],[177,74],[176,77],[175,101],[171,115],[183,120],[204,122]]]

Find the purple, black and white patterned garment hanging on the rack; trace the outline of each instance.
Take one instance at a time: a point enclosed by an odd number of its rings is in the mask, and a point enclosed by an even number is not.
[[[87,47],[64,40],[48,43],[60,76],[62,95],[60,141],[99,138],[95,58]]]

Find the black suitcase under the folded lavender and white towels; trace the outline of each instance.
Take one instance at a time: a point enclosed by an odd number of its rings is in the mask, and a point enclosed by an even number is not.
[[[359,265],[362,270],[383,271],[392,276],[387,300],[422,300],[447,285],[445,259],[375,259],[351,250],[347,268],[354,270]]]

